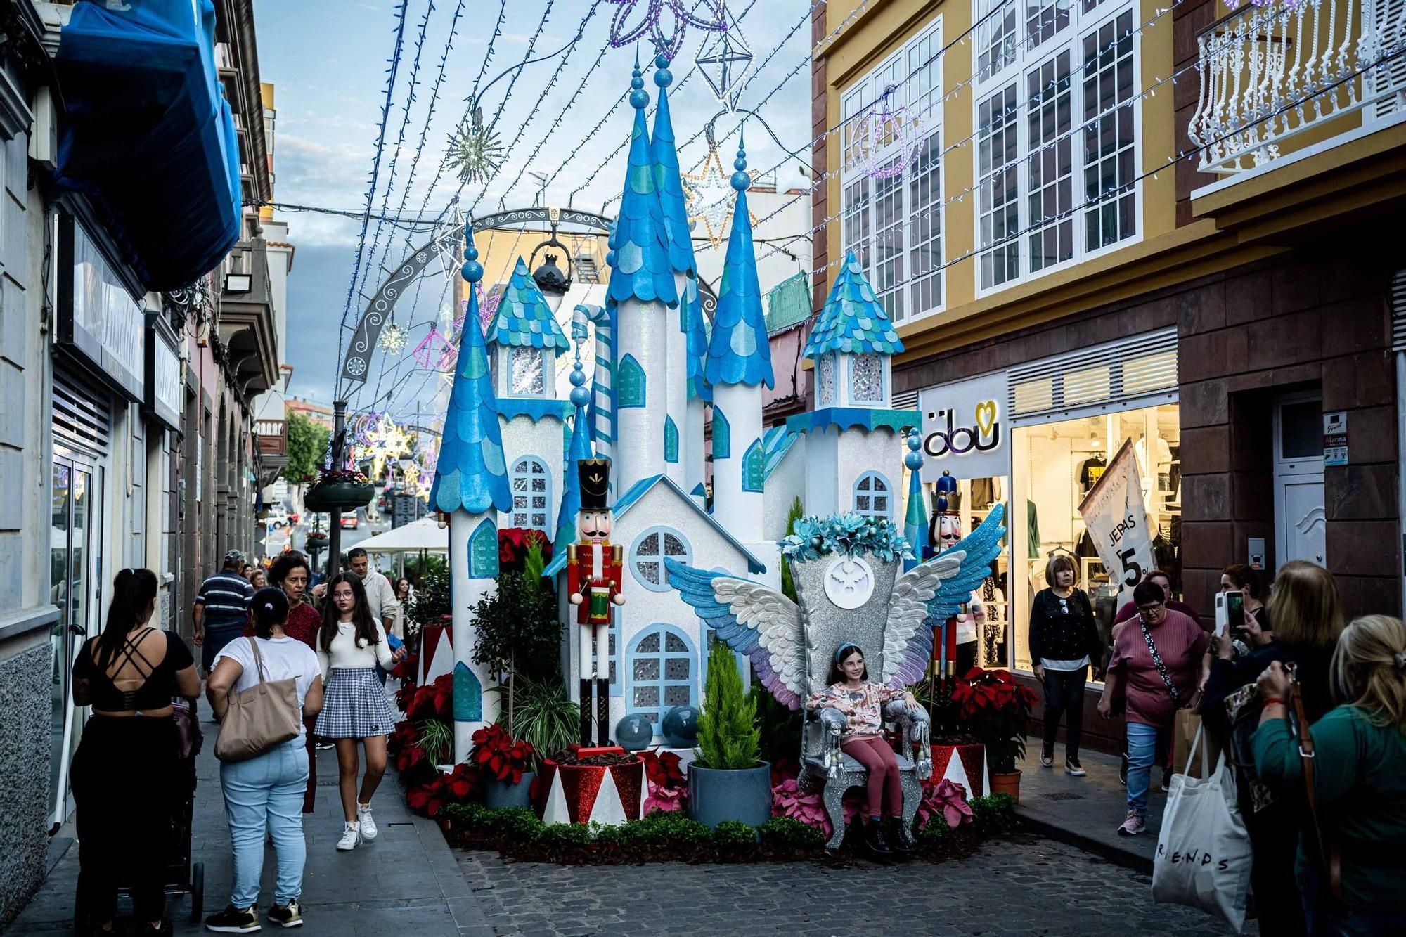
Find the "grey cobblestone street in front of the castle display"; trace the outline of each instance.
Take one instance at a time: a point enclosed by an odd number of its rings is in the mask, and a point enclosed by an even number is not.
[[[572,868],[456,851],[492,934],[1227,934],[1146,875],[1033,836],[963,861]],[[470,929],[467,933],[479,933]],[[1258,934],[1250,923],[1244,933]]]

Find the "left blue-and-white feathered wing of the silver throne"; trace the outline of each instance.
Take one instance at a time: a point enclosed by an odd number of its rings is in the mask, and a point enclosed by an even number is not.
[[[806,632],[800,609],[759,582],[709,573],[665,557],[669,585],[718,639],[747,654],[762,685],[792,709],[806,692]]]

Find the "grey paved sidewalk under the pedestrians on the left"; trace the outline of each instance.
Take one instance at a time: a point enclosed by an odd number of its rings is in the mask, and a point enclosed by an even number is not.
[[[209,709],[202,702],[202,718]],[[197,862],[205,864],[205,914],[229,903],[231,850],[229,826],[225,823],[224,798],[219,792],[219,763],[215,760],[212,722],[202,725],[205,747],[197,764],[195,822],[191,848]],[[342,803],[337,799],[337,761],[335,751],[318,753],[316,812],[305,819],[308,862],[302,878],[302,913],[305,934],[385,934],[413,933],[418,937],[465,937],[492,930],[478,910],[478,902],[464,882],[454,854],[437,826],[405,809],[394,768],[381,782],[371,806],[380,836],[371,846],[337,853],[342,834]],[[273,900],[274,851],[264,853],[260,910]],[[7,934],[70,933],[73,892],[77,882],[77,846],[58,861],[38,895],[30,902]],[[177,934],[207,933],[190,923],[190,898],[169,899],[167,916]],[[124,902],[122,913],[131,907]],[[266,920],[266,933],[269,924]]]

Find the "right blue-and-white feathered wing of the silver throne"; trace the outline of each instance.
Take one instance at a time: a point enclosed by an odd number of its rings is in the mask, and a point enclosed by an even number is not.
[[[932,657],[932,625],[945,622],[966,602],[1001,553],[1005,506],[995,505],[981,525],[950,550],[898,577],[889,599],[883,632],[883,682],[898,688],[917,682]]]

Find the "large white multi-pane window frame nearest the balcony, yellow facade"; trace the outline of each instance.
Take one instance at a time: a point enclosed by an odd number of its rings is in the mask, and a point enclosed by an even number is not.
[[[1007,3],[1015,3],[1015,0],[1005,0]],[[973,15],[986,15],[1000,0],[973,0]],[[1019,283],[1028,283],[1039,277],[1047,276],[1050,273],[1066,270],[1069,267],[1077,266],[1087,260],[1101,257],[1114,250],[1122,250],[1143,241],[1146,236],[1146,219],[1144,219],[1144,201],[1143,201],[1143,180],[1133,183],[1133,234],[1115,241],[1109,245],[1095,248],[1092,250],[1085,249],[1087,241],[1087,212],[1090,207],[1084,205],[1084,172],[1087,165],[1084,162],[1084,37],[1090,32],[1099,30],[1108,23],[1116,21],[1118,17],[1130,14],[1132,27],[1132,122],[1133,122],[1133,177],[1142,174],[1143,172],[1143,142],[1144,142],[1144,128],[1142,122],[1142,37],[1140,27],[1142,20],[1139,18],[1137,6],[1132,0],[1069,0],[1069,25],[1060,28],[1052,37],[1042,39],[1038,45],[1031,46],[1026,41],[1026,17],[1028,8],[1024,6],[1015,7],[1015,53],[1001,69],[993,72],[991,75],[977,75],[976,83],[972,87],[972,127],[974,135],[972,138],[972,169],[973,179],[976,180],[976,191],[972,200],[972,232],[973,243],[976,245],[976,253],[973,259],[976,260],[976,270],[973,272],[973,287],[977,298],[983,298],[1001,290],[1007,290]],[[993,23],[1002,20],[1002,15],[993,17]],[[984,31],[979,31],[979,45],[973,51],[973,56],[981,55],[980,37],[984,37]],[[1040,270],[1031,270],[1031,256],[1029,256],[1029,239],[1033,234],[1029,231],[1029,196],[1031,196],[1031,146],[1029,146],[1029,87],[1028,75],[1049,60],[1059,56],[1062,52],[1069,52],[1070,56],[1070,135],[1063,139],[1069,139],[1070,156],[1071,156],[1071,207],[1074,211],[1069,215],[1073,231],[1073,255],[1067,260],[1057,263],[1050,263]],[[1000,93],[1002,89],[1015,86],[1015,134],[1017,134],[1017,225],[1015,229],[1019,232],[1014,239],[1000,241],[983,248],[981,239],[981,104],[991,100],[991,97]],[[1102,111],[1097,111],[1102,114]],[[1116,113],[1116,111],[1114,111]],[[1056,134],[1059,136],[1059,132]],[[981,281],[981,264],[983,259],[990,256],[990,252],[995,246],[1015,245],[1017,248],[1017,273],[1004,283],[994,283],[991,286],[983,286]]]

